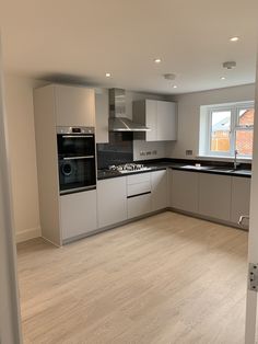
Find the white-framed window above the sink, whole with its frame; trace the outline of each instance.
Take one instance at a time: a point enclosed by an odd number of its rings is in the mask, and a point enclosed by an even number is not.
[[[200,154],[234,157],[237,150],[239,157],[251,158],[254,102],[201,108]]]

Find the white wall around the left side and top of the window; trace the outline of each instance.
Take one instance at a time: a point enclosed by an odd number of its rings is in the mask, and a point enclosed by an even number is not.
[[[178,139],[176,142],[167,145],[167,157],[192,159],[198,156],[201,105],[251,101],[254,99],[255,84],[173,96],[172,100],[178,104]],[[192,150],[192,157],[187,157],[186,150]]]

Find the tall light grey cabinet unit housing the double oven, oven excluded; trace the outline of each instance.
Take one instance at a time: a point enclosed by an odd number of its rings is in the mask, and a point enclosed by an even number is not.
[[[63,240],[96,228],[92,206],[96,204],[96,191],[59,196],[56,129],[57,126],[95,126],[94,90],[61,84],[36,89],[34,112],[42,233],[48,241],[61,245]],[[79,209],[72,206],[79,200],[81,218]]]

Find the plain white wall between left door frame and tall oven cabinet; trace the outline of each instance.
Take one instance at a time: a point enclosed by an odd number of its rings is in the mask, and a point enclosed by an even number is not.
[[[35,81],[5,76],[11,184],[16,240],[40,236],[34,130]],[[47,138],[46,138],[47,139]]]

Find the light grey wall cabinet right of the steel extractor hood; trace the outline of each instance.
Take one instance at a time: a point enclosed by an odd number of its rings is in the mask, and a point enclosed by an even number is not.
[[[148,126],[146,141],[177,139],[176,103],[154,100],[136,101],[132,104],[133,121]]]

